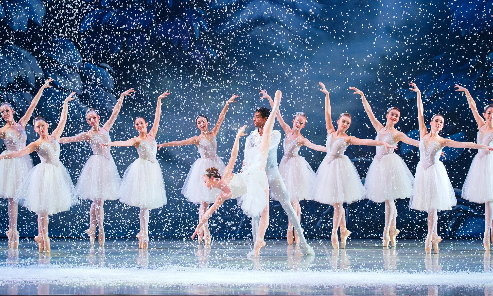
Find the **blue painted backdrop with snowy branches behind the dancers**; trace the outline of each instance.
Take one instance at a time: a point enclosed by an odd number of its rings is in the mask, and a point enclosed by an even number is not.
[[[16,109],[26,110],[48,76],[56,87],[47,89],[35,115],[58,121],[63,99],[71,92],[65,135],[88,129],[87,107],[107,119],[119,94],[135,87],[113,127],[115,140],[137,135],[136,114],[152,119],[156,97],[166,89],[172,95],[163,104],[158,143],[198,134],[194,118],[207,114],[213,123],[225,100],[240,94],[231,106],[218,136],[218,154],[227,161],[238,126],[249,124],[253,109],[266,106],[258,88],[283,91],[282,112],[309,117],[303,134],[323,144],[326,132],[323,94],[318,81],[331,92],[333,114],[353,114],[350,134],[373,138],[373,128],[360,99],[349,91],[360,88],[379,118],[389,106],[401,109],[398,128],[417,136],[415,94],[407,83],[416,81],[423,91],[426,116],[446,116],[444,137],[474,141],[476,124],[454,83],[469,88],[478,106],[492,97],[493,1],[317,1],[317,0],[1,0],[0,95]],[[73,13],[75,11],[75,13]],[[279,127],[278,127],[279,128]],[[28,141],[36,134],[27,126]],[[243,146],[243,143],[242,143]],[[280,147],[279,158],[282,156]],[[374,155],[373,147],[350,147],[348,155],[363,178]],[[452,184],[461,188],[476,151],[445,149],[444,163]],[[112,150],[120,172],[135,159],[134,148]],[[314,169],[323,154],[302,148]],[[414,172],[417,151],[401,145],[399,153]],[[87,144],[65,145],[62,161],[74,182],[90,155]],[[195,147],[161,149],[169,204],[151,211],[155,237],[188,237],[197,222],[197,206],[179,194],[190,165],[198,157]],[[36,155],[33,155],[38,162]],[[440,213],[439,231],[449,238],[479,237],[483,206],[465,202],[457,190],[458,206]],[[425,215],[399,200],[398,228],[403,237],[423,237]],[[303,201],[302,224],[309,238],[330,235],[332,210]],[[50,233],[78,237],[87,227],[89,203],[51,218]],[[119,202],[106,203],[106,233],[134,236],[138,211]],[[383,205],[362,200],[348,207],[352,237],[380,237]],[[21,209],[22,235],[36,232],[35,215]],[[0,225],[6,229],[6,203]],[[228,201],[211,219],[215,236],[249,236],[250,222]],[[267,236],[283,237],[287,218],[277,202],[271,203]],[[3,235],[1,231],[1,235]]]

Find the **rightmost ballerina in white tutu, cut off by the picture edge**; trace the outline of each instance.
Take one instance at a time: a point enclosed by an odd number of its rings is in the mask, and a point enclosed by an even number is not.
[[[487,105],[483,117],[476,108],[476,102],[469,91],[456,84],[456,91],[465,93],[469,108],[478,124],[477,143],[493,147],[493,104]],[[468,201],[485,204],[485,234],[483,246],[486,251],[491,250],[492,222],[493,222],[493,153],[485,149],[478,150],[474,156],[471,168],[467,173],[462,186],[462,197]]]

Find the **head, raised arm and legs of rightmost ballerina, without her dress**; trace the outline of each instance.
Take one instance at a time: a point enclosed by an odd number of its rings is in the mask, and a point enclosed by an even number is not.
[[[482,133],[482,135],[488,135],[493,133],[493,105],[490,104],[486,106],[483,112],[483,117],[481,117],[478,108],[476,107],[476,102],[474,102],[474,99],[469,93],[469,90],[458,84],[456,84],[456,86],[454,87],[456,88],[456,91],[460,91],[465,94],[467,98],[467,103],[469,104],[469,108],[471,109],[472,114],[474,116],[474,120],[476,120],[476,123],[478,124],[478,130]],[[486,251],[491,250],[492,223],[493,223],[493,201],[486,201],[485,202],[485,233],[483,236],[483,246]]]

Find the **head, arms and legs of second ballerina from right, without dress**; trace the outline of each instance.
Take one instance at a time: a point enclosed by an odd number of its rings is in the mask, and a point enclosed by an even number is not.
[[[486,145],[480,145],[472,142],[457,142],[451,139],[442,138],[439,133],[443,129],[444,121],[442,115],[434,115],[431,117],[430,121],[430,130],[426,127],[424,123],[424,107],[423,100],[421,98],[421,91],[416,85],[416,83],[411,82],[411,90],[416,92],[417,95],[417,104],[418,104],[418,123],[420,129],[420,138],[423,139],[425,147],[430,147],[430,145],[438,142],[441,147],[452,147],[452,148],[471,148],[471,149],[488,149],[492,151],[492,147],[488,147]],[[438,253],[439,248],[438,244],[442,241],[442,238],[438,236],[437,222],[438,222],[438,214],[436,209],[431,209],[428,212],[428,232],[426,234],[426,239],[424,242],[424,249],[427,254],[431,253],[431,247],[435,253]]]

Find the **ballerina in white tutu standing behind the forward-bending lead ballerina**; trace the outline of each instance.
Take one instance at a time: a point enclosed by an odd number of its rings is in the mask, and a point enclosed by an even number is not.
[[[205,186],[202,186],[202,175],[206,168],[215,167],[219,170],[219,174],[224,172],[224,162],[219,156],[217,156],[217,141],[216,136],[221,128],[221,124],[226,117],[228,106],[231,103],[235,103],[239,96],[233,94],[229,100],[226,101],[217,122],[214,127],[209,131],[209,119],[200,114],[195,119],[195,126],[200,130],[200,135],[191,137],[187,140],[172,141],[163,144],[159,144],[158,150],[162,147],[174,147],[184,145],[196,145],[200,158],[197,159],[190,168],[186,177],[185,183],[181,188],[181,194],[183,194],[189,202],[200,204],[199,206],[199,221],[202,219],[202,215],[209,208],[209,204],[213,203],[220,190],[212,188],[209,190]],[[202,238],[199,239],[199,244],[202,243]],[[211,244],[211,233],[209,232],[209,225],[206,225],[204,243],[206,245]]]

